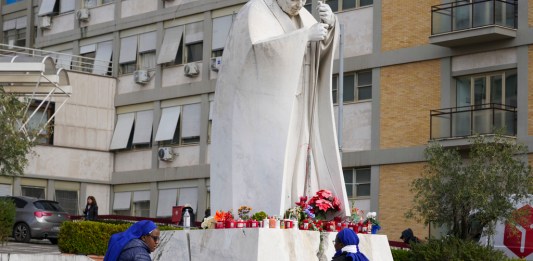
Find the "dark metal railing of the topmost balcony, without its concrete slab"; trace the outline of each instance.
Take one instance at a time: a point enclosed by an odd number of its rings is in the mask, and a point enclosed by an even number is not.
[[[431,7],[431,35],[498,25],[517,28],[516,0],[457,1]]]

